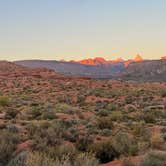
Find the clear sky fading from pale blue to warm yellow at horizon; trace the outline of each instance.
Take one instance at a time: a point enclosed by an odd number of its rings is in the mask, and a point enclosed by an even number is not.
[[[0,59],[166,56],[166,0],[0,0]]]

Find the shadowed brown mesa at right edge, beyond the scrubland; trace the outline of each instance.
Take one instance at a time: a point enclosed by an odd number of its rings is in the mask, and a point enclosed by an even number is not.
[[[124,71],[118,73],[116,78],[134,81],[166,81],[166,59],[133,62]]]

